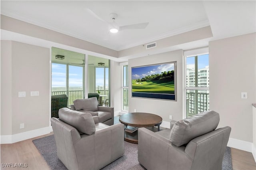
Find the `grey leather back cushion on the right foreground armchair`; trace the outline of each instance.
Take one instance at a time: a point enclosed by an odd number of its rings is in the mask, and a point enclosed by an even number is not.
[[[193,138],[216,129],[220,116],[215,111],[199,113],[176,122],[170,132],[170,142],[176,146],[187,144]]]

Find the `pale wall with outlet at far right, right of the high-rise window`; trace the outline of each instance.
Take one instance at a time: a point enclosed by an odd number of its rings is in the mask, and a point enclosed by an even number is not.
[[[210,109],[220,113],[219,127],[230,138],[252,142],[252,103],[256,101],[256,34],[209,43]],[[241,92],[248,99],[241,99]]]

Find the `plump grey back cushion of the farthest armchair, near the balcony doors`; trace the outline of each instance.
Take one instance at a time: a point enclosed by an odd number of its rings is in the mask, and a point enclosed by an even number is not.
[[[74,107],[76,111],[84,110],[84,111],[98,111],[98,100],[96,97],[92,97],[89,99],[76,99],[73,101]]]

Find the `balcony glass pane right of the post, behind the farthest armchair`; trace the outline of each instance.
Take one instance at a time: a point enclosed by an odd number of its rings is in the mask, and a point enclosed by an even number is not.
[[[83,67],[68,67],[68,106],[76,99],[83,99]]]

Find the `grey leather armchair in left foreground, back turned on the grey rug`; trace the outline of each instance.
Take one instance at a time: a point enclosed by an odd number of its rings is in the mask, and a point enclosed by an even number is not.
[[[57,156],[69,170],[99,170],[124,154],[124,125],[108,126],[90,113],[59,110],[51,118]]]

